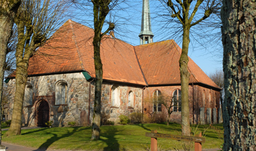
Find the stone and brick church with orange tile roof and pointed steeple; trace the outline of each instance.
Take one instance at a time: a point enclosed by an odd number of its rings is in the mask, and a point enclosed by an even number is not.
[[[95,68],[93,29],[68,20],[29,60],[22,125],[77,126],[92,124]],[[160,96],[173,99],[170,121],[181,121],[179,57],[174,40],[153,42],[148,0],[143,0],[140,44],[132,46],[115,38],[102,38],[103,64],[102,124],[118,122],[119,115],[143,113],[153,122],[165,122],[167,110],[154,103]],[[220,108],[220,87],[189,58],[189,106],[191,123],[216,123]],[[12,119],[15,73],[6,80],[10,103],[6,112]],[[7,115],[5,116],[7,117]]]

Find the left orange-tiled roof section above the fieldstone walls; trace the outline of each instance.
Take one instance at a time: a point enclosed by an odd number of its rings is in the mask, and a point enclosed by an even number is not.
[[[28,75],[87,71],[95,77],[93,33],[93,29],[68,20],[29,59]],[[132,45],[106,35],[100,46],[104,80],[147,85]]]

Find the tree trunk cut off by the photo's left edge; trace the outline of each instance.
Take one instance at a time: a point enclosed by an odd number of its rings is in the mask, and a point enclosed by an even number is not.
[[[12,35],[13,18],[17,13],[20,5],[19,0],[15,1],[1,1],[0,2],[0,104],[2,104],[3,96],[3,78],[4,78],[4,64],[6,59],[6,50],[8,41]],[[1,113],[1,109],[0,109]],[[0,115],[2,117],[2,115]],[[1,118],[0,118],[0,144],[1,144]]]

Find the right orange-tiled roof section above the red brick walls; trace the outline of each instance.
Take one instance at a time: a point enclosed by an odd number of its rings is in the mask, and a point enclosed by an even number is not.
[[[148,85],[180,84],[179,59],[182,50],[174,40],[134,48]],[[220,89],[190,58],[188,68],[191,73],[189,83],[204,83]]]

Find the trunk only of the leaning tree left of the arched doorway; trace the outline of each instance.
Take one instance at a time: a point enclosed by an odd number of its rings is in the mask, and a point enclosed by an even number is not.
[[[24,22],[16,23],[18,26],[18,43],[15,53],[16,57],[16,75],[15,75],[15,96],[13,103],[12,123],[10,129],[4,134],[5,136],[19,135],[21,131],[22,122],[22,108],[24,101],[25,87],[28,78],[28,64],[31,50],[29,49],[28,41],[30,41],[31,34],[28,34],[29,28],[26,29],[24,35],[25,24]],[[27,43],[26,43],[27,42]],[[26,45],[25,45],[26,43]],[[30,45],[33,45],[33,40]],[[25,48],[24,48],[25,46]]]

